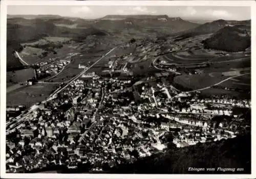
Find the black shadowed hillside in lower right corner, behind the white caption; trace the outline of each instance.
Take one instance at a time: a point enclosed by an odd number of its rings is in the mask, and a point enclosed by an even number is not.
[[[165,152],[139,159],[134,164],[122,164],[112,173],[148,174],[230,174],[251,173],[251,137],[238,136],[233,139],[211,143],[199,143],[184,148],[168,149]],[[215,168],[215,171],[188,171],[189,167]],[[243,168],[243,171],[217,171],[222,168]]]

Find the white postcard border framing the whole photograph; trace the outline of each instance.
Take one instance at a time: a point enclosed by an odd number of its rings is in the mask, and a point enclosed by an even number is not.
[[[1,92],[1,178],[255,178],[256,177],[256,141],[255,122],[251,123],[251,174],[55,174],[55,173],[6,173],[6,23],[8,5],[48,5],[48,6],[250,6],[251,7],[251,49],[256,49],[256,3],[255,1],[1,1],[1,65],[0,65],[0,92]],[[251,68],[256,68],[255,52],[251,50]],[[251,70],[252,79],[256,79],[256,72]],[[255,78],[253,78],[255,76]],[[251,93],[256,94],[256,82],[251,82]],[[252,114],[256,114],[256,98],[251,97]],[[255,111],[253,110],[255,109]],[[243,154],[241,154],[243,155]]]

